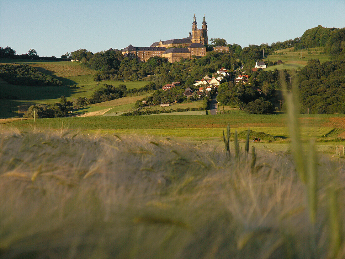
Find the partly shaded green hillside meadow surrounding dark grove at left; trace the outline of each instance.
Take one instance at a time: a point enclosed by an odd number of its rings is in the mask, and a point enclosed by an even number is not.
[[[90,97],[92,93],[103,86],[124,84],[128,89],[145,86],[148,81],[95,81],[92,69],[82,67],[80,63],[69,61],[34,61],[22,59],[0,59],[1,63],[25,63],[37,68],[40,72],[51,75],[62,81],[62,86],[19,86],[11,85],[0,79],[1,96],[15,96],[16,99],[0,100],[0,118],[22,115],[32,104],[57,103],[61,95],[67,100]]]

